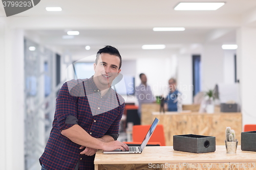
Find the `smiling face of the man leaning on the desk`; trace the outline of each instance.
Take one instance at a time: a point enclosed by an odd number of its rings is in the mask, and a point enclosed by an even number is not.
[[[118,69],[120,58],[114,55],[101,53],[98,63],[94,63],[94,77],[96,78],[95,84],[109,88],[113,80],[118,76],[121,69]]]

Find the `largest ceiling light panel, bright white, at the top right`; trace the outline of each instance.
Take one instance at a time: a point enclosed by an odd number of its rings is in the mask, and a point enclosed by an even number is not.
[[[217,10],[225,3],[179,3],[174,10],[207,11]]]

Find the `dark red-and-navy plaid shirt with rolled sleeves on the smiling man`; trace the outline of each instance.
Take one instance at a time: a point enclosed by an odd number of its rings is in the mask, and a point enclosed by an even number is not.
[[[53,128],[40,163],[48,170],[73,170],[80,161],[79,170],[94,169],[95,155],[80,155],[80,145],[61,135],[61,131],[76,124],[67,121],[73,117],[92,137],[118,134],[123,111],[123,98],[112,88],[101,97],[93,77],[66,82],[56,99]]]

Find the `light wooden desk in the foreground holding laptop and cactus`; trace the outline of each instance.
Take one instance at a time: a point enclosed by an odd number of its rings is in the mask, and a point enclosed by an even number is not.
[[[95,170],[256,169],[256,152],[241,151],[240,145],[238,146],[236,154],[227,154],[224,145],[217,145],[215,152],[202,154],[174,151],[173,147],[145,147],[141,154],[107,155],[103,154],[102,151],[98,151],[95,156],[94,164]],[[157,164],[159,164],[159,167],[162,164],[162,167],[165,168],[153,168],[154,165],[157,167]],[[236,168],[236,165],[241,165],[242,168]],[[199,166],[201,168],[199,168]]]

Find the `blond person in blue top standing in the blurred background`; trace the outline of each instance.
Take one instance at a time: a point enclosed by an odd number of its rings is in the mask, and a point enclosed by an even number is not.
[[[169,84],[169,94],[166,96],[166,103],[168,105],[168,111],[178,111],[178,94],[180,92],[177,90],[176,79],[170,78],[168,81]]]

